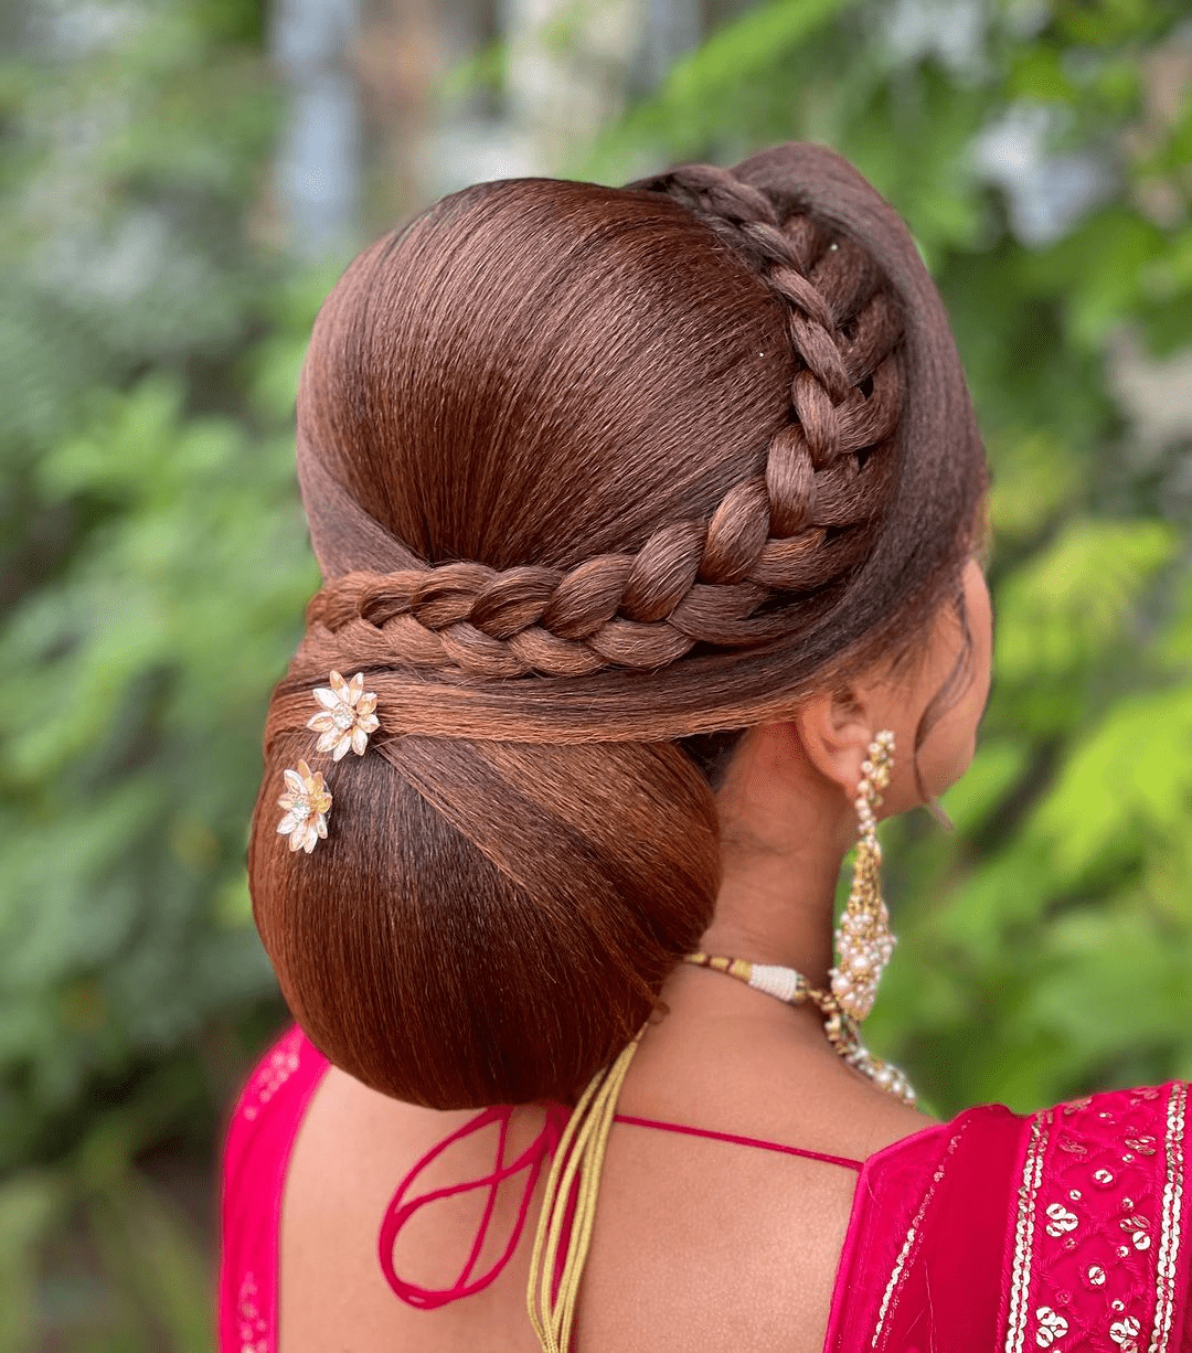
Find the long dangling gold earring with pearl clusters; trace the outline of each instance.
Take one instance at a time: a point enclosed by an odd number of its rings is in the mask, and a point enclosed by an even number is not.
[[[874,809],[890,782],[894,763],[894,735],[882,729],[869,744],[856,786],[858,842],[852,866],[852,888],[840,928],[836,931],[836,966],[828,974],[832,994],[851,1019],[861,1022],[873,1009],[882,970],[894,950],[890,913],[882,900],[882,848],[877,838]]]

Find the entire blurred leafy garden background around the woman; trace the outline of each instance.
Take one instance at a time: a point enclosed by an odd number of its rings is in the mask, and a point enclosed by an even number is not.
[[[792,137],[908,218],[994,467],[993,702],[957,831],[889,831],[873,1043],[940,1114],[1192,1077],[1187,0],[4,0],[0,1353],[212,1346],[319,299],[465,183]]]

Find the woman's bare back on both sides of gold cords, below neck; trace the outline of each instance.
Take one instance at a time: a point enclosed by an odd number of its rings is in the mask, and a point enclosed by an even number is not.
[[[931,1122],[851,1073],[842,1076],[831,1054],[731,1038],[731,1057],[679,1026],[647,1038],[620,1112],[858,1164]],[[298,1134],[284,1191],[281,1353],[476,1346],[536,1353],[525,1291],[543,1180],[510,1262],[483,1292],[415,1310],[395,1298],[377,1262],[380,1220],[396,1187],[474,1119],[471,1111],[402,1104],[327,1073]],[[541,1123],[536,1107],[514,1112],[506,1160]],[[414,1192],[483,1178],[495,1153],[495,1131],[463,1137],[425,1166]],[[579,1349],[819,1353],[856,1177],[847,1164],[618,1122],[584,1269]],[[398,1242],[398,1270],[426,1288],[452,1287],[486,1195],[478,1189],[419,1212]],[[480,1269],[511,1235],[521,1199],[521,1181],[498,1192],[494,1241]]]

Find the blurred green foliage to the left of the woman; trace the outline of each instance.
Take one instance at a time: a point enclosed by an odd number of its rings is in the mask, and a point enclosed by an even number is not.
[[[317,574],[261,5],[24,4],[0,61],[0,1350],[212,1346],[276,1024],[244,878]],[[19,20],[19,22],[18,22]]]

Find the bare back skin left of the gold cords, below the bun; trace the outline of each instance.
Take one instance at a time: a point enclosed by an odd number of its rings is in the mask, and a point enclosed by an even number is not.
[[[486,1330],[482,1344],[492,1353],[534,1353],[537,1344],[525,1319],[526,1235],[498,1283],[437,1311],[399,1300],[377,1261],[380,1224],[395,1189],[423,1155],[475,1118],[474,1111],[440,1114],[403,1104],[334,1068],[327,1073],[303,1119],[285,1178],[280,1353],[387,1353],[394,1348],[474,1353]],[[540,1109],[518,1109],[506,1154],[528,1145],[541,1119]],[[491,1173],[495,1153],[495,1131],[463,1138],[419,1169],[411,1196]],[[402,1277],[430,1289],[451,1288],[486,1201],[487,1191],[478,1189],[417,1214],[394,1249]],[[513,1189],[499,1192],[494,1237],[509,1237],[518,1203]],[[482,1262],[491,1257],[486,1247]]]

